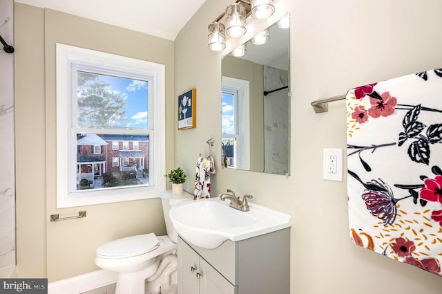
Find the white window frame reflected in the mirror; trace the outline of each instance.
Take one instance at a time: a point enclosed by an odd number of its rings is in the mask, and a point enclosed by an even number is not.
[[[222,92],[236,96],[235,135],[222,134],[223,138],[233,137],[234,168],[250,169],[250,90],[249,81],[234,77],[222,77]]]

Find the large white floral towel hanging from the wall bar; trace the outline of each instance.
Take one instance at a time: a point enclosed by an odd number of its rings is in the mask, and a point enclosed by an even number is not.
[[[442,275],[442,68],[347,92],[350,237]]]

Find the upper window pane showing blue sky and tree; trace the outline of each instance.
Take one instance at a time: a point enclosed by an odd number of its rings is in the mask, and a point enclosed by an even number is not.
[[[147,93],[147,81],[77,71],[77,127],[147,129]]]

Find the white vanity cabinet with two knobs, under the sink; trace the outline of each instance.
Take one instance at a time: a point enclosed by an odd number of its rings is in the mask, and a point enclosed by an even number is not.
[[[178,238],[178,294],[289,294],[290,228],[218,248]]]

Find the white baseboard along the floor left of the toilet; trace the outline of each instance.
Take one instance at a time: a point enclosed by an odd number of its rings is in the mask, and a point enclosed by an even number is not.
[[[78,294],[117,282],[117,273],[95,270],[48,284],[48,294]]]

